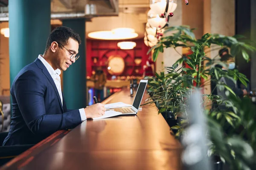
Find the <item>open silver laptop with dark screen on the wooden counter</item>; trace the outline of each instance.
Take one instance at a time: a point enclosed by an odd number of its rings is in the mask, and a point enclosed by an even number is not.
[[[145,80],[145,79],[140,80],[140,84],[137,88],[137,92],[136,92],[135,97],[134,97],[134,102],[133,102],[131,107],[113,108],[113,109],[109,109],[109,110],[121,112],[122,114],[137,114],[138,110],[139,110],[139,107],[140,107],[140,103],[141,103],[143,94],[144,94],[145,89],[147,87],[147,84],[148,84],[148,80]]]

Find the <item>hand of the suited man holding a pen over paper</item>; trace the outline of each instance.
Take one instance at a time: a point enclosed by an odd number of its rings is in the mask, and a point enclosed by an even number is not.
[[[90,105],[87,108],[84,108],[87,119],[102,116],[105,114],[105,111],[106,108],[104,108],[104,104],[102,103],[97,103],[94,105]]]

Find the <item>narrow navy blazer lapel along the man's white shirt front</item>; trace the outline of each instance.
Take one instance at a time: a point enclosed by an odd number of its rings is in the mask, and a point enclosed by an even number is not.
[[[43,72],[44,75],[47,77],[47,79],[49,80],[49,82],[52,84],[52,87],[53,87],[53,89],[54,89],[54,91],[55,91],[55,94],[56,94],[57,97],[58,97],[58,101],[59,101],[59,104],[60,104],[60,107],[61,107],[61,110],[62,110],[62,113],[63,113],[64,111],[63,111],[63,107],[62,107],[62,104],[61,104],[61,97],[60,97],[60,95],[59,95],[59,93],[58,93],[58,89],[57,89],[57,87],[56,87],[56,85],[55,85],[55,82],[53,81],[53,79],[52,79],[51,75],[49,74],[47,68],[44,66],[44,64],[41,62],[40,59],[37,58],[37,59],[35,60],[35,63],[36,63],[36,65],[38,65],[39,68],[42,69],[42,72]]]

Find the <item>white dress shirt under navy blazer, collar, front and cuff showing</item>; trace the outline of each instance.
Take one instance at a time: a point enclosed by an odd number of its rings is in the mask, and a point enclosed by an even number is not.
[[[43,62],[44,66],[47,68],[47,71],[51,75],[51,77],[56,85],[56,88],[58,89],[58,94],[60,95],[60,98],[61,98],[61,105],[63,105],[63,97],[62,97],[62,92],[61,92],[61,77],[60,77],[61,71],[60,71],[60,69],[57,68],[56,70],[54,70],[52,68],[52,66],[49,65],[49,63],[44,59],[44,57],[42,57],[42,55],[38,55],[38,59],[40,59],[41,62]],[[84,112],[84,108],[79,109],[79,113],[81,116],[81,121],[84,121],[87,119],[85,112]]]

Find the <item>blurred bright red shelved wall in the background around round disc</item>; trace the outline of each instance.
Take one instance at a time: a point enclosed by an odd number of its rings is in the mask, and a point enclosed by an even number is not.
[[[95,71],[96,67],[101,65],[103,71],[111,78],[111,74],[108,73],[108,58],[112,55],[119,55],[125,60],[125,70],[119,76],[142,76],[143,75],[143,65],[145,65],[148,59],[147,52],[148,48],[144,44],[143,39],[133,40],[136,42],[136,47],[131,50],[122,50],[117,47],[117,42],[122,40],[89,40],[86,41],[87,51],[86,51],[86,65],[87,65],[87,76],[92,75],[92,71]],[[136,64],[134,59],[140,58],[142,62]],[[96,64],[93,62],[97,60]]]

